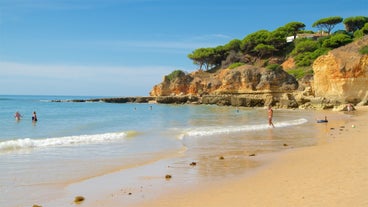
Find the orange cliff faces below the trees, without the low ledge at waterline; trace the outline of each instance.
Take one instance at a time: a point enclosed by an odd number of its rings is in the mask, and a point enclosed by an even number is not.
[[[335,101],[335,105],[346,102],[368,104],[368,55],[359,53],[367,45],[368,35],[317,58],[313,63],[313,77],[307,78],[305,83],[301,80],[299,89],[305,86],[308,93],[296,91],[298,82],[284,70],[243,65],[216,72],[199,70],[182,73],[172,80],[165,76],[160,84],[153,87],[150,95],[256,95],[278,92],[288,93],[289,96],[293,92],[298,104],[302,105],[311,100],[313,104],[327,103],[328,107],[332,103],[329,101]],[[292,63],[290,59],[285,64],[292,67]]]

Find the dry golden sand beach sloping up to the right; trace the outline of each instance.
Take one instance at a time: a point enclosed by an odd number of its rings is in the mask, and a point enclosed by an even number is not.
[[[253,175],[138,206],[368,206],[368,110],[358,110],[317,146],[289,150]]]

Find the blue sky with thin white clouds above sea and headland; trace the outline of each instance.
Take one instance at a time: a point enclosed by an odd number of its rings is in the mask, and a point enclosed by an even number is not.
[[[367,0],[0,0],[0,95],[148,96],[195,49],[331,16]]]

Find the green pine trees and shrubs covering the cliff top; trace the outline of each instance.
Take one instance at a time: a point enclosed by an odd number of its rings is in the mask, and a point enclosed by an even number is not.
[[[345,30],[331,33],[340,23],[344,24]],[[368,34],[368,17],[328,17],[317,20],[312,27],[318,28],[318,32],[304,30],[302,22],[290,22],[274,31],[259,30],[225,45],[198,48],[188,58],[200,70],[204,68],[207,71],[243,64],[274,69],[281,67],[280,64],[286,59],[293,58],[295,66],[290,73],[302,78],[310,74],[311,65],[317,57]]]

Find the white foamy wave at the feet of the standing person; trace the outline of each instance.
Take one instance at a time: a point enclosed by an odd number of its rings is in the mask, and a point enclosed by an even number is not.
[[[274,123],[276,128],[289,127],[295,125],[301,125],[307,123],[307,119],[296,119],[290,121],[283,121]],[[219,134],[231,134],[237,132],[246,131],[258,131],[270,128],[268,124],[256,124],[256,125],[239,125],[239,126],[213,126],[213,127],[199,127],[195,129],[187,130],[184,134],[179,136],[179,139],[184,139],[184,137],[201,137],[201,136],[211,136]]]

